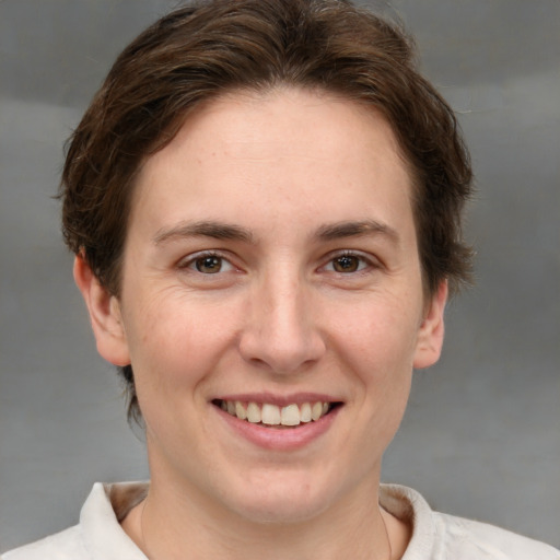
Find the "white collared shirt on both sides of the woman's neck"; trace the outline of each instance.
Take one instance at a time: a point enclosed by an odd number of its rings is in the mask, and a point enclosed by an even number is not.
[[[1,560],[147,560],[119,520],[147,493],[145,483],[95,483],[80,523]],[[508,530],[434,512],[415,490],[382,485],[382,506],[412,524],[402,560],[560,560],[560,551]]]

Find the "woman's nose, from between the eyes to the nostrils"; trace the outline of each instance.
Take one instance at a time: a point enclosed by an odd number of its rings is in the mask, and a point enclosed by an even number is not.
[[[326,346],[313,298],[296,275],[264,279],[252,291],[240,339],[244,360],[275,374],[298,373],[316,363]]]

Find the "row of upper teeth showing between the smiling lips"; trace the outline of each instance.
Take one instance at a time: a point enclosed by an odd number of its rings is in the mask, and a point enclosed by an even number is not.
[[[295,428],[316,422],[341,402],[303,402],[279,407],[269,402],[242,402],[240,400],[214,399],[213,405],[229,415],[267,428]]]

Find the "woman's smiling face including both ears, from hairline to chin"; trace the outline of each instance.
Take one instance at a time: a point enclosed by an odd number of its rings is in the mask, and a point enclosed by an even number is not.
[[[443,332],[410,188],[380,115],[294,90],[213,101],[145,162],[119,299],[77,278],[154,489],[259,521],[373,501]]]

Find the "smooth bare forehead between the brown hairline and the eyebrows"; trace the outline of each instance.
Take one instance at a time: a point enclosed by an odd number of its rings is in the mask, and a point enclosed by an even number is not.
[[[395,135],[375,109],[322,92],[234,92],[197,107],[144,162],[132,214],[219,220],[230,209],[246,220],[254,209],[255,225],[289,215],[398,223],[411,215],[410,189]]]

